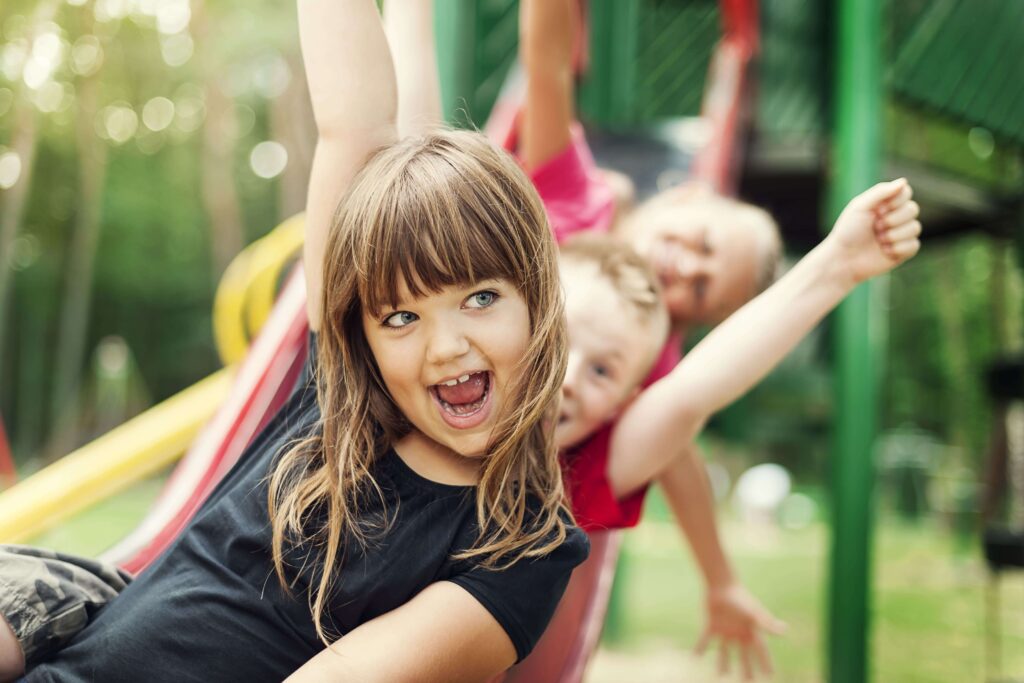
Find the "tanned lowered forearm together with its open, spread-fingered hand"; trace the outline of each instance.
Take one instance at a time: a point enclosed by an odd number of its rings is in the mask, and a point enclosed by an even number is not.
[[[675,459],[657,479],[662,493],[686,536],[705,580],[708,622],[696,644],[703,652],[719,641],[719,670],[726,673],[729,650],[735,650],[743,678],[770,675],[771,656],[762,632],[779,635],[785,625],[775,618],[736,579],[718,533],[715,500],[696,444]]]

